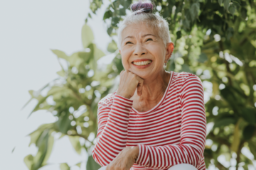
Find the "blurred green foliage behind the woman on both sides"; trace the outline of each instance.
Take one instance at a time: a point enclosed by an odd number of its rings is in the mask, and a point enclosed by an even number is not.
[[[129,0],[110,2],[102,9],[101,0],[90,1],[91,11],[85,22],[98,10],[105,10],[103,21],[112,39],[107,50],[115,56],[112,63],[97,65],[97,60],[105,54],[93,43],[92,30],[85,24],[82,27],[85,49],[70,56],[53,50],[62,67],[59,77],[38,91],[29,91],[31,99],[38,101],[32,113],[50,111],[56,122],[41,125],[30,134],[30,145],[36,145],[38,152],[24,158],[28,169],[45,166],[54,141],[65,135],[78,154],[85,149],[90,155],[88,170],[100,167],[91,156],[97,135],[97,102],[117,89],[123,67],[114,37],[132,4]],[[256,1],[157,0],[154,3],[156,13],[169,22],[175,45],[167,69],[196,74],[205,87],[206,167],[248,169],[253,157],[242,149],[250,150],[256,157]],[[48,93],[43,96],[42,91]],[[70,167],[63,163],[60,169]]]

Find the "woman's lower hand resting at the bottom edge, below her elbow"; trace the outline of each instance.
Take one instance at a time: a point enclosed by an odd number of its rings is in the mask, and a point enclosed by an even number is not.
[[[139,147],[125,147],[117,157],[107,165],[106,170],[129,170],[136,162]]]

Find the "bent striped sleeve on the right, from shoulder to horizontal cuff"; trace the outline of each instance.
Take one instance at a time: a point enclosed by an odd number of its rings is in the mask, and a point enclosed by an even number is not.
[[[136,164],[169,169],[176,164],[192,164],[203,168],[203,150],[206,142],[206,113],[203,86],[195,75],[186,77],[179,91],[181,103],[181,140],[179,145],[137,145],[139,156]]]

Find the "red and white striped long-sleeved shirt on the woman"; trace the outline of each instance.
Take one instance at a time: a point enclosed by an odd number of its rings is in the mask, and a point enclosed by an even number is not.
[[[206,169],[201,80],[191,73],[170,73],[163,98],[149,111],[137,111],[132,108],[132,100],[116,92],[100,100],[97,142],[92,151],[98,164],[106,166],[125,147],[138,146],[134,170],[169,169],[181,163]]]

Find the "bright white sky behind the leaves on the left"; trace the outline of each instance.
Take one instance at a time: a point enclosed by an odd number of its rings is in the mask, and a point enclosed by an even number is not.
[[[26,135],[43,123],[55,121],[46,111],[33,113],[27,119],[36,101],[21,108],[30,99],[28,90],[38,90],[58,76],[55,72],[60,66],[50,49],[68,55],[82,50],[81,28],[88,11],[88,0],[0,1],[0,169],[28,169],[23,158],[36,154],[36,147],[28,147],[30,138]],[[110,37],[102,16],[98,13],[89,25],[96,44],[106,52]],[[68,138],[63,137],[55,142],[48,160],[55,164],[41,170],[58,170],[58,163],[72,166],[86,159],[85,152],[77,154]],[[73,166],[75,169],[78,166]]]

